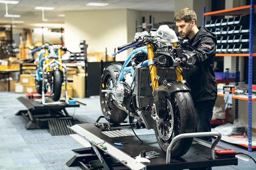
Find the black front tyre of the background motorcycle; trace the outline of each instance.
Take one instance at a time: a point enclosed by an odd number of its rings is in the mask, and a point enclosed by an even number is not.
[[[61,71],[54,71],[53,72],[53,93],[52,93],[52,100],[58,101],[61,95],[61,84],[63,82],[62,72]]]

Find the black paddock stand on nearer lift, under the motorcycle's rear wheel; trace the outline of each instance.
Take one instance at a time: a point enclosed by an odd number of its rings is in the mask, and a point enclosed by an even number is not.
[[[94,125],[97,126],[97,127],[99,127],[101,131],[110,131],[110,130],[111,130],[111,127],[114,128],[114,127],[128,127],[128,126],[130,126],[129,121],[123,121],[123,122],[120,123],[120,124],[99,123],[100,119],[102,119],[102,118],[104,118],[103,115],[99,116],[98,119],[97,119],[97,120],[95,121],[95,123],[94,123]],[[139,122],[139,121],[131,123],[131,126],[137,127],[138,129],[139,129],[140,127],[145,128],[144,123]]]

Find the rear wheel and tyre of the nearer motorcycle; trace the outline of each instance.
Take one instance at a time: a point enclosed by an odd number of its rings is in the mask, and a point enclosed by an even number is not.
[[[123,122],[128,114],[124,110],[121,110],[118,107],[116,107],[113,101],[110,100],[112,99],[112,93],[102,93],[101,90],[110,90],[111,81],[114,86],[116,82],[115,72],[119,73],[121,67],[122,65],[119,63],[112,63],[108,65],[103,71],[100,83],[100,103],[102,114],[108,122],[113,124],[119,124]]]

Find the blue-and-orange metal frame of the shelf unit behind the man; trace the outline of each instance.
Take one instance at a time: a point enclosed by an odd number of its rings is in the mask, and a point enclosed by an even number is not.
[[[235,118],[238,118],[238,99],[248,100],[248,151],[252,151],[252,71],[253,71],[253,56],[256,56],[253,53],[253,29],[254,29],[254,0],[250,1],[250,5],[235,7],[225,10],[205,12],[205,7],[203,8],[203,25],[205,25],[205,16],[244,16],[250,14],[250,23],[249,23],[249,53],[217,53],[216,56],[235,56],[236,57],[236,72],[238,72],[238,63],[239,56],[248,56],[248,99],[244,97],[243,99],[240,97],[233,96],[236,99],[236,114]],[[227,20],[228,22],[228,20]],[[216,22],[215,22],[216,23]],[[210,23],[211,24],[211,23]],[[233,23],[234,24],[234,23]],[[234,48],[233,48],[234,49]],[[236,85],[238,85],[238,81],[236,81]],[[220,95],[219,95],[220,96]]]

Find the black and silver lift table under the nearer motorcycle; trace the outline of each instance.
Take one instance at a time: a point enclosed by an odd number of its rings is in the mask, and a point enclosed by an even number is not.
[[[170,159],[170,163],[166,163],[166,154],[160,149],[156,137],[151,135],[139,135],[143,144],[136,136],[109,137],[100,131],[93,123],[76,124],[69,127],[71,130],[82,136],[90,142],[92,147],[73,150],[78,155],[70,159],[66,165],[68,167],[79,166],[81,169],[132,169],[132,170],[161,170],[169,169],[188,169],[203,168],[226,165],[237,165],[238,159],[235,158],[218,158],[211,159],[211,143],[194,138],[190,150],[180,158]],[[124,127],[118,128],[127,129]],[[115,130],[115,131],[116,131]],[[146,129],[145,129],[146,130]],[[114,131],[114,130],[113,130]],[[128,142],[123,146],[114,145],[115,142]],[[102,144],[107,147],[99,147]],[[216,146],[217,150],[223,149]],[[160,154],[158,158],[149,159],[150,163],[135,163],[135,157],[140,155],[141,151],[155,151]],[[238,155],[236,155],[238,156]]]

